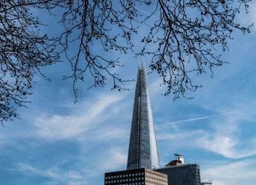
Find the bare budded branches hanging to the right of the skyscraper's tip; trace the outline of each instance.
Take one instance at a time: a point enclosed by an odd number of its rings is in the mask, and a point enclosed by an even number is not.
[[[157,10],[150,15],[159,19],[150,25],[150,31],[141,42],[145,42],[139,55],[150,54],[151,69],[162,77],[167,86],[165,96],[173,94],[173,100],[187,97],[187,90],[196,91],[200,85],[193,83],[191,75],[206,73],[209,69],[227,63],[222,61],[216,48],[228,50],[227,40],[233,39],[233,30],[244,34],[249,27],[235,22],[236,15],[244,5],[248,10],[249,0],[158,0]],[[150,50],[157,45],[156,50]],[[188,97],[191,98],[191,97]]]

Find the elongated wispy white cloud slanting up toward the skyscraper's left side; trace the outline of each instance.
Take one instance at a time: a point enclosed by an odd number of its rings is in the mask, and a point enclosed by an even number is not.
[[[118,113],[120,109],[108,109],[124,96],[117,94],[105,94],[92,99],[90,103],[83,103],[71,116],[54,115],[50,118],[37,118],[34,125],[37,127],[37,135],[47,139],[59,140],[76,137],[82,133],[98,127],[107,118]]]

